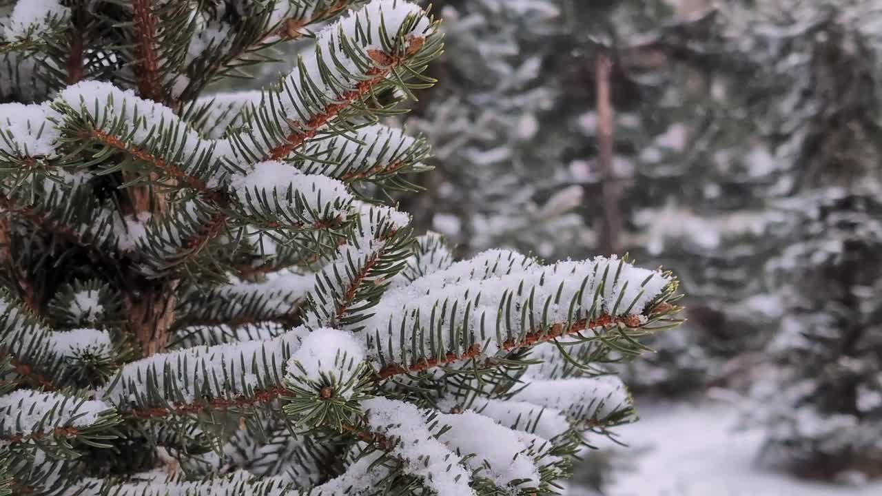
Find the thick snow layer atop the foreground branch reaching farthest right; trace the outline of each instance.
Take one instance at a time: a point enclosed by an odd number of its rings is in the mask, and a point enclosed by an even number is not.
[[[474,335],[483,353],[492,355],[505,342],[518,342],[525,328],[538,330],[543,322],[553,325],[604,313],[639,315],[669,283],[669,277],[659,271],[634,267],[615,257],[558,262],[486,279],[481,279],[480,271],[473,272],[480,267],[454,264],[385,294],[372,310],[373,316],[359,323],[369,336],[376,336],[375,354],[397,364],[418,359],[408,357],[412,352],[407,343],[397,344],[400,329],[427,338],[432,334],[431,339],[440,341],[443,349],[471,346],[470,342],[454,342],[452,333],[430,331],[437,327],[430,322],[434,315],[436,320],[445,319],[445,328],[464,329],[458,335],[469,340]],[[423,289],[431,289],[430,294]],[[506,315],[500,308],[519,311]],[[592,309],[593,316],[589,315]],[[392,349],[388,349],[389,342]]]

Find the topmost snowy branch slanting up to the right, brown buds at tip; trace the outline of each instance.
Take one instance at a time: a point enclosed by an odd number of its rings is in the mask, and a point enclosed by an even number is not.
[[[299,59],[278,91],[265,92],[262,108],[278,110],[252,109],[255,128],[233,137],[237,149],[248,162],[278,160],[341,112],[363,112],[357,101],[381,84],[404,85],[438,55],[436,33],[428,14],[409,2],[372,0],[351,12],[318,33],[315,52]]]

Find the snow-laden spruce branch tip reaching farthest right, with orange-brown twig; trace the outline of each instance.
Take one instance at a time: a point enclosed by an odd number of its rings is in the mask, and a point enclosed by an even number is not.
[[[454,264],[379,301],[361,327],[381,375],[492,357],[588,329],[645,332],[656,306],[676,289],[668,274],[617,258],[537,265],[487,279],[473,279],[474,270]]]

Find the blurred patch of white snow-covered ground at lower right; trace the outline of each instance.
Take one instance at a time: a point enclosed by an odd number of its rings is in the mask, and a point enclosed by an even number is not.
[[[614,448],[617,469],[606,496],[882,495],[882,483],[812,484],[759,469],[752,462],[762,433],[733,432],[736,411],[728,404],[638,407],[640,421],[618,429],[629,447]]]

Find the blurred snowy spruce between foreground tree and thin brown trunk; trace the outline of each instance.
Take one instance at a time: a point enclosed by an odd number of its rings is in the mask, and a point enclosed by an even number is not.
[[[581,189],[557,157],[555,133],[541,131],[560,98],[557,71],[545,70],[557,51],[550,41],[564,26],[558,2],[423,4],[447,19],[448,52],[432,67],[438,85],[407,117],[427,134],[437,164],[422,178],[431,208],[415,222],[444,233],[461,253],[501,246],[549,259],[584,256],[588,231],[572,213]]]

